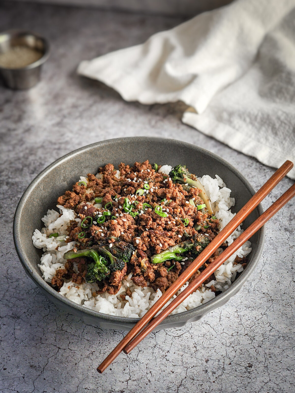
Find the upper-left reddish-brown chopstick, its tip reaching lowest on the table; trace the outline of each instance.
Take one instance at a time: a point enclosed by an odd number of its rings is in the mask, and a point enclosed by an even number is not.
[[[286,176],[293,168],[291,161],[286,161],[267,182],[256,192],[255,195],[243,206],[243,208],[232,218],[232,220],[221,230],[218,235],[208,244],[200,255],[184,270],[174,283],[164,292],[160,299],[146,312],[136,325],[126,334],[121,342],[97,367],[102,373],[122,352],[124,347],[137,336],[141,329],[157,314],[167,301],[192,277],[192,275],[206,262],[206,260],[218,249],[218,247],[229,237],[229,235],[245,220],[245,218],[260,204],[271,190]]]

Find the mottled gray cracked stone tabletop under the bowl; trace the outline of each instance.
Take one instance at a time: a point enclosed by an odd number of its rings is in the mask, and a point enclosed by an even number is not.
[[[0,391],[294,392],[294,202],[266,226],[251,281],[203,320],[150,334],[102,375],[95,368],[122,339],[64,314],[24,274],[13,248],[17,202],[31,180],[63,154],[118,136],[183,139],[225,158],[258,189],[274,172],[181,124],[182,104],[125,103],[77,77],[80,60],[140,43],[180,18],[0,3],[0,26],[48,37],[42,82],[24,92],[0,87]],[[292,184],[284,179],[264,208]]]

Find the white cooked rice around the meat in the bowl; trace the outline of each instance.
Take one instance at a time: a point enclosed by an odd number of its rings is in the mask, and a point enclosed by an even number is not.
[[[168,174],[172,167],[170,165],[163,165],[159,172]],[[119,173],[117,174],[119,177]],[[81,181],[87,183],[87,178],[81,176]],[[225,225],[234,217],[234,213],[231,212],[230,208],[234,206],[235,200],[230,197],[231,190],[226,187],[223,180],[216,175],[215,178],[211,178],[208,175],[204,175],[199,178],[201,184],[203,184],[205,191],[210,198],[212,209],[215,216],[219,219],[220,227],[219,230],[225,227]],[[41,263],[38,265],[42,272],[42,277],[48,283],[51,283],[52,277],[59,268],[63,268],[66,260],[63,259],[63,255],[68,250],[74,248],[75,242],[66,244],[62,238],[62,235],[66,236],[66,228],[69,225],[70,220],[76,219],[78,225],[81,225],[81,220],[75,218],[76,215],[73,210],[66,209],[63,206],[57,205],[59,213],[55,210],[48,210],[47,214],[42,218],[45,227],[41,231],[35,230],[33,233],[33,244],[37,248],[42,248],[44,253],[41,257]],[[240,226],[230,235],[227,239],[228,244],[231,244],[236,237],[242,233]],[[48,236],[51,233],[59,233],[59,238]],[[57,248],[57,249],[56,249]],[[222,249],[220,249],[222,252]],[[210,289],[211,285],[219,291],[224,291],[231,283],[235,280],[236,274],[242,272],[243,266],[241,264],[235,264],[234,260],[236,256],[244,257],[251,252],[251,243],[245,242],[236,253],[234,253],[223,265],[221,265],[215,272],[215,279],[210,283],[203,285],[201,290],[197,290],[183,303],[181,303],[172,314],[177,314],[186,310],[193,309],[201,304],[215,297],[215,292]],[[76,267],[74,266],[74,269]],[[152,288],[146,287],[141,288],[136,286],[131,280],[132,274],[129,274],[127,279],[122,282],[122,287],[116,295],[109,295],[107,292],[101,295],[93,296],[94,292],[98,290],[96,284],[84,283],[77,285],[72,281],[65,282],[61,287],[60,294],[66,298],[74,301],[77,304],[83,305],[92,310],[102,312],[104,314],[124,316],[130,318],[141,318],[147,310],[162,296],[161,291],[157,291]],[[188,283],[186,283],[179,292],[183,291]],[[120,294],[125,294],[125,291],[129,288],[132,292],[131,297],[126,296],[126,301],[122,301]],[[175,296],[174,296],[175,298]],[[168,302],[168,304],[172,299]]]

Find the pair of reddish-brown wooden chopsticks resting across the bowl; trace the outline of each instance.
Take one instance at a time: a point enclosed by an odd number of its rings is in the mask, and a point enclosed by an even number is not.
[[[295,184],[293,184],[278,200],[273,203],[253,224],[251,224],[234,242],[227,247],[219,257],[210,263],[201,274],[197,276],[183,292],[181,292],[160,314],[152,318],[178,292],[192,275],[207,261],[207,259],[218,249],[218,247],[229,237],[229,235],[245,220],[245,218],[260,204],[270,191],[286,176],[293,168],[291,161],[286,161],[267,182],[256,192],[255,195],[243,206],[243,208],[232,218],[232,220],[221,230],[208,246],[194,259],[184,270],[177,280],[164,292],[160,299],[146,312],[136,325],[126,334],[122,341],[98,366],[97,371],[102,373],[122,351],[129,353],[149,332],[151,332],[166,316],[170,314],[185,298],[194,292],[215,270],[223,264],[245,241],[254,235],[279,209],[281,209],[295,195]],[[147,325],[148,323],[148,325]],[[144,328],[144,329],[143,329]],[[142,330],[143,329],[143,330]]]

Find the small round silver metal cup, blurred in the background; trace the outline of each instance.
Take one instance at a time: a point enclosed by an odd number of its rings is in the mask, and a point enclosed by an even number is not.
[[[11,89],[29,89],[39,82],[41,66],[48,59],[48,41],[31,31],[7,30],[0,33],[0,53],[5,53],[13,46],[27,46],[38,50],[42,57],[22,68],[4,68],[0,66],[0,75]]]

